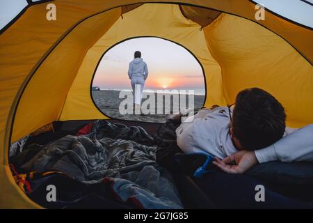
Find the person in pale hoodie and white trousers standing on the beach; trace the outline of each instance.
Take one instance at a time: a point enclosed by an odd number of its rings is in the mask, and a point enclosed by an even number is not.
[[[128,76],[129,79],[131,79],[131,88],[133,89],[135,111],[141,111],[141,97],[143,95],[147,75],[147,63],[141,58],[141,52],[136,51],[134,60],[129,63],[128,69]]]

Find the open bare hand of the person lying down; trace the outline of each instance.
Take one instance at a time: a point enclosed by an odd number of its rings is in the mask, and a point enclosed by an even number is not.
[[[215,157],[213,162],[216,167],[228,174],[243,174],[257,163],[254,151],[239,151],[225,157],[223,160]]]

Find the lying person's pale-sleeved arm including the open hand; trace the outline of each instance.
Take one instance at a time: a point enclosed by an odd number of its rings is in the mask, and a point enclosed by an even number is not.
[[[280,160],[282,162],[313,160],[313,124],[300,128],[274,145],[258,151],[240,151],[225,159],[216,158],[214,164],[230,174],[243,174],[258,162]],[[232,163],[234,163],[232,165]]]

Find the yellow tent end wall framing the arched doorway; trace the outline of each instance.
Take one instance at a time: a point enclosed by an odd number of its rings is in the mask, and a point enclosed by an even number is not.
[[[161,17],[160,14],[162,14]],[[95,67],[109,47],[133,36],[157,36],[184,45],[199,59],[204,73],[207,74],[206,82],[210,90],[207,91],[205,105],[226,104],[223,98],[220,66],[211,56],[203,32],[199,30],[199,25],[186,20],[180,12],[179,6],[145,4],[123,17],[124,19],[120,18],[115,22],[111,29],[88,50],[77,72],[77,77],[67,93],[61,121],[103,118],[103,114],[93,105],[90,97],[90,81]],[[154,25],[151,26],[151,24]]]

